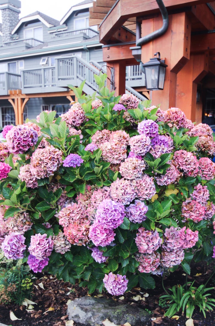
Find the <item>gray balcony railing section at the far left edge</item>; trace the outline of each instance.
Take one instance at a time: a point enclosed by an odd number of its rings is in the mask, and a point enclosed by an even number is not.
[[[11,72],[2,72],[0,73],[0,95],[7,95],[9,89],[21,89],[21,76]]]

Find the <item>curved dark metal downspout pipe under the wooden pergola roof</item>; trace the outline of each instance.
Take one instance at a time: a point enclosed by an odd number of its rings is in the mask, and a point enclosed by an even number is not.
[[[169,26],[169,18],[168,18],[168,12],[166,7],[164,6],[164,3],[162,0],[156,0],[158,7],[160,9],[162,19],[163,19],[163,25],[161,28],[159,28],[157,31],[154,31],[144,37],[141,37],[138,39],[138,37],[141,34],[141,24],[139,22],[136,22],[136,46],[141,46],[149,41],[152,41],[153,39],[163,35]]]

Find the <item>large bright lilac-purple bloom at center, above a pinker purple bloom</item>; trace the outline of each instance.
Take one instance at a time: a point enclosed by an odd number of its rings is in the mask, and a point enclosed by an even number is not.
[[[104,199],[97,208],[95,222],[110,230],[123,223],[125,217],[124,205],[111,199]]]

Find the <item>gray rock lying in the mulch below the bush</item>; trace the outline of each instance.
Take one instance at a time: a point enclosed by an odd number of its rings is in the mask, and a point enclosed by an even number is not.
[[[69,320],[79,322],[85,326],[103,326],[106,318],[116,325],[129,322],[131,326],[143,325],[150,316],[143,309],[129,304],[117,304],[106,298],[82,297],[68,304],[67,315]]]

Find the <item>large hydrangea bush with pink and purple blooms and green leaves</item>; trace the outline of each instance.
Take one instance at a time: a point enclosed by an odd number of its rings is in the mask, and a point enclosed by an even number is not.
[[[0,245],[37,273],[119,295],[215,257],[209,126],[133,95],[82,95],[55,118],[4,129]]]

